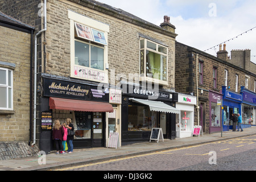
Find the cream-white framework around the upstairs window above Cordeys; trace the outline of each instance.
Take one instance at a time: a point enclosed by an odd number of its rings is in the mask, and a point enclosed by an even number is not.
[[[144,41],[144,48],[141,48],[141,41]],[[140,48],[139,48],[139,55],[140,55],[140,58],[139,58],[139,64],[140,64],[140,67],[139,67],[139,81],[150,81],[150,82],[155,82],[155,83],[158,83],[159,85],[168,85],[168,47],[164,46],[163,44],[159,44],[159,43],[156,43],[156,42],[153,42],[151,40],[148,40],[146,38],[140,38],[139,39],[139,42],[140,42]],[[150,48],[147,48],[147,42],[150,42],[150,43],[153,43],[153,44],[156,44],[156,51],[153,50],[153,49],[150,49]],[[158,51],[158,47],[164,47],[166,48],[166,53],[163,53],[163,52],[159,52]],[[142,65],[141,65],[141,51],[143,51],[143,73],[142,73]],[[163,56],[166,56],[166,80],[159,80],[157,78],[152,78],[152,77],[147,77],[147,74],[146,74],[146,51],[151,51],[151,52],[154,52],[154,53],[158,53],[159,55],[163,55]],[[163,71],[163,67],[160,68],[162,72]]]

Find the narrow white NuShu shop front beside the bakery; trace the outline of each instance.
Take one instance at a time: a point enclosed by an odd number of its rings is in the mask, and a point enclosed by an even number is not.
[[[194,127],[196,97],[179,93],[176,108],[180,110],[180,117],[176,114],[176,137],[191,137]]]

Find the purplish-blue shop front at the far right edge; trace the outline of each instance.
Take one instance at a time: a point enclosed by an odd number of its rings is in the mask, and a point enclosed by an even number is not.
[[[242,127],[256,125],[254,115],[256,114],[256,93],[241,86],[242,93]]]

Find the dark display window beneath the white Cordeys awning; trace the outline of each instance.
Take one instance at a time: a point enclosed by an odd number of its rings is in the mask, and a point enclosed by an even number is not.
[[[151,131],[157,125],[157,112],[148,106],[129,106],[128,131]]]

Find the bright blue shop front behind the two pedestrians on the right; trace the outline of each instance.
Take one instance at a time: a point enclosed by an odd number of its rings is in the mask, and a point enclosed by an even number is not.
[[[223,131],[229,131],[233,129],[232,114],[241,114],[242,111],[242,94],[232,92],[222,86],[222,126]]]

